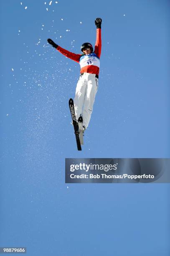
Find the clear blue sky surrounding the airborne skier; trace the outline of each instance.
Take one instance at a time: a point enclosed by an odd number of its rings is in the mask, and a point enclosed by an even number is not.
[[[68,185],[64,164],[170,157],[170,4],[55,2],[0,3],[0,246],[26,246],[29,256],[167,256],[169,184]],[[68,101],[80,67],[46,40],[81,53],[95,43],[96,17],[99,90],[78,152]]]

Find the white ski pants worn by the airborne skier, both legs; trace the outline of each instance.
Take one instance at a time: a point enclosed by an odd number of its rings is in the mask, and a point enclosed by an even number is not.
[[[82,115],[83,125],[88,127],[93,111],[94,99],[98,89],[98,78],[95,74],[84,73],[79,78],[74,98],[74,110],[76,119]]]

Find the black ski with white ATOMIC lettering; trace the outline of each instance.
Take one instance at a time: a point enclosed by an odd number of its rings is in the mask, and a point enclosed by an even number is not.
[[[79,138],[79,125],[76,121],[73,99],[69,100],[69,108],[70,108],[70,112],[71,112],[71,118],[73,120],[74,133],[75,133],[75,136],[76,136],[76,143],[77,143],[77,149],[81,150],[81,144],[80,144],[80,138]]]

